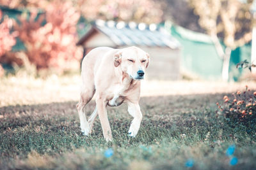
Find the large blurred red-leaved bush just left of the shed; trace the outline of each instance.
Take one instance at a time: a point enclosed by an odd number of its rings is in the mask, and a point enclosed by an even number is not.
[[[15,25],[19,38],[26,46],[26,55],[37,69],[53,67],[62,72],[79,67],[82,53],[76,46],[76,24],[79,13],[69,2],[54,1],[45,8],[45,13],[36,18],[36,11],[20,17]],[[46,20],[47,24],[42,26]],[[74,65],[75,64],[75,65]]]

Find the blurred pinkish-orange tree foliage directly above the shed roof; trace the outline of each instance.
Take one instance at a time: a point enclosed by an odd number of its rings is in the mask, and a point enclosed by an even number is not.
[[[85,18],[95,20],[124,20],[134,22],[161,22],[161,4],[152,0],[73,0]]]

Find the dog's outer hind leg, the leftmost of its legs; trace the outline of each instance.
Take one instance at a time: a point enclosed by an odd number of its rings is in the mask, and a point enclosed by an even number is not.
[[[84,107],[86,106],[87,103],[91,101],[94,93],[95,93],[95,88],[93,84],[87,87],[83,86],[81,90],[80,101],[76,105],[77,111],[79,114],[79,119],[80,119],[81,132],[83,132],[83,134],[86,136],[88,136],[89,134],[89,124],[86,120]]]

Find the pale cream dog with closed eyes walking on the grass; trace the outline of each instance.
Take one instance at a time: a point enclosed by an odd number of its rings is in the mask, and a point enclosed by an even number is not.
[[[145,77],[150,56],[136,46],[123,49],[109,47],[93,48],[81,64],[81,97],[77,103],[80,127],[84,135],[92,132],[93,123],[99,114],[103,136],[112,141],[107,106],[120,106],[126,102],[128,113],[133,117],[129,136],[135,137],[140,129],[140,84]],[[96,107],[86,120],[84,106],[95,95]]]

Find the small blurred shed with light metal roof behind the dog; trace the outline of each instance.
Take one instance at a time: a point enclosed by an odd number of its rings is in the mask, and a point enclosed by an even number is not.
[[[156,24],[96,20],[77,45],[84,54],[97,46],[125,48],[138,46],[150,54],[147,79],[177,80],[180,78],[180,43]]]

